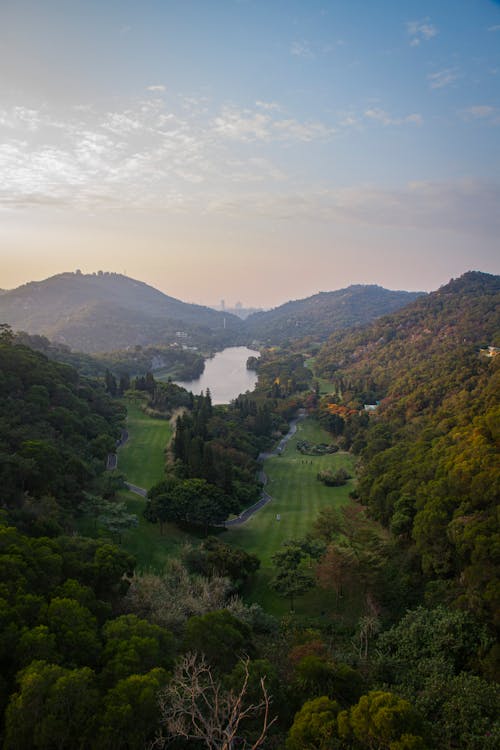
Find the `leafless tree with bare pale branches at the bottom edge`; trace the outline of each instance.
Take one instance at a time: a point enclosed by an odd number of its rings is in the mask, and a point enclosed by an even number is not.
[[[270,718],[271,696],[265,677],[260,679],[262,698],[247,703],[249,687],[249,658],[242,659],[244,678],[239,691],[227,690],[214,677],[205,657],[189,653],[178,663],[170,684],[159,696],[163,730],[155,747],[165,747],[174,737],[199,740],[209,750],[256,750],[276,721]],[[245,719],[259,716],[260,734],[257,739],[246,739],[238,734]]]

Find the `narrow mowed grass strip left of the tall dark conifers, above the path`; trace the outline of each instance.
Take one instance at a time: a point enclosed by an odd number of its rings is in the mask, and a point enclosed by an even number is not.
[[[118,449],[118,469],[127,482],[149,489],[165,476],[165,448],[172,437],[166,419],[153,419],[127,401],[128,440]]]

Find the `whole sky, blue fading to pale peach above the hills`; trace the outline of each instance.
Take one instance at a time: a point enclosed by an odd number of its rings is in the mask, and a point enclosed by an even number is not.
[[[0,288],[500,273],[500,2],[0,0]]]

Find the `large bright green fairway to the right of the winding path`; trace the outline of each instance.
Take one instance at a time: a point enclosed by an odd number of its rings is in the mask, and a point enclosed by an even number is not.
[[[340,507],[350,502],[349,492],[353,487],[352,479],[343,487],[326,487],[317,479],[318,471],[335,471],[341,466],[354,474],[354,460],[350,454],[303,456],[296,449],[297,440],[329,443],[331,436],[310,417],[299,422],[297,433],[288,442],[284,453],[265,462],[267,490],[273,498],[271,502],[245,524],[232,528],[222,536],[225,542],[258,555],[261,568],[247,598],[259,602],[276,615],[288,612],[289,604],[269,587],[274,574],[272,555],[284,541],[299,539],[311,531],[322,508]],[[277,520],[277,515],[281,520]],[[321,615],[329,607],[329,599],[326,592],[313,591],[297,600],[296,611],[304,615]]]

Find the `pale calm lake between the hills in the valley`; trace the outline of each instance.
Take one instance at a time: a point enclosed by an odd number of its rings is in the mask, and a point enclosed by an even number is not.
[[[233,398],[245,391],[253,391],[257,382],[257,373],[247,370],[249,357],[258,357],[259,353],[246,346],[231,346],[223,352],[217,352],[212,359],[205,360],[205,369],[197,380],[176,380],[195,395],[210,388],[212,403],[228,404]]]

